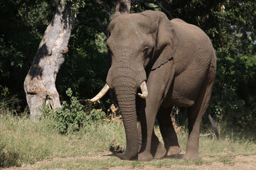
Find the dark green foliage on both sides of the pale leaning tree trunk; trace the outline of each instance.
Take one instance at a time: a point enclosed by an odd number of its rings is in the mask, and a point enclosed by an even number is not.
[[[68,87],[75,91],[75,96],[90,98],[105,84],[109,67],[103,42],[106,38],[97,22],[79,23],[97,17],[107,28],[105,8],[92,2],[86,6],[84,1],[68,3],[79,5],[80,14],[75,20],[69,52],[58,73],[56,86],[61,100],[68,99],[65,95]],[[26,107],[23,81],[54,12],[53,1],[0,1],[0,82],[3,88],[9,89],[9,96],[18,94],[23,108]]]

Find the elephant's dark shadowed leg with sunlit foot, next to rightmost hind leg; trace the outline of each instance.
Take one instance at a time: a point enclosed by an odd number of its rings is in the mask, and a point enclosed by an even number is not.
[[[178,145],[178,138],[171,121],[171,109],[172,108],[161,107],[156,117],[159,121],[167,157],[174,156],[181,152],[181,147]]]

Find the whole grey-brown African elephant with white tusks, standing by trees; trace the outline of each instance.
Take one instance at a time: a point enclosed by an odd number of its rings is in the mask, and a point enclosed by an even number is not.
[[[181,19],[169,21],[160,11],[116,13],[108,29],[112,65],[105,87],[90,102],[109,89],[116,94],[127,147],[124,152],[116,147],[114,154],[150,161],[181,152],[170,117],[175,105],[188,111],[183,159],[200,159],[199,129],[216,72],[215,52],[206,33]],[[154,134],[156,119],[164,146]]]

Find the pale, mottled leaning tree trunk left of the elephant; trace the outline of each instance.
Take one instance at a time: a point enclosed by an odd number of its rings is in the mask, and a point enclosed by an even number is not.
[[[75,19],[75,11],[70,5],[63,5],[63,0],[55,0],[55,15],[46,28],[43,40],[38,47],[31,68],[24,81],[26,100],[31,113],[31,120],[36,121],[43,103],[50,103],[52,108],[60,107],[60,98],[55,87],[55,80],[68,52],[68,40]]]

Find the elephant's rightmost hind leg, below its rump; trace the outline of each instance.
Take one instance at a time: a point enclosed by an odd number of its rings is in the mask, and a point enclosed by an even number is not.
[[[212,89],[213,81],[209,82],[207,79],[203,83],[195,105],[188,108],[188,143],[186,145],[186,154],[183,159],[201,159],[198,153],[200,125],[203,115],[206,113]]]

